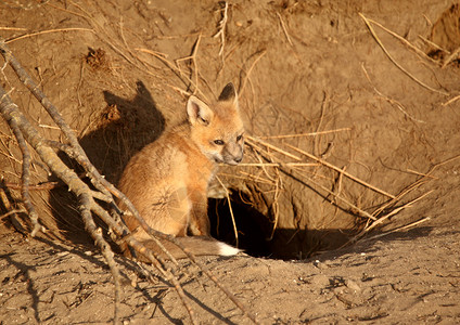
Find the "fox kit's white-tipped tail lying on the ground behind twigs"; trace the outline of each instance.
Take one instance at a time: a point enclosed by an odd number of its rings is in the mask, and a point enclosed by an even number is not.
[[[207,256],[207,255],[218,255],[218,256],[233,256],[241,251],[235,247],[227,245],[226,243],[214,239],[208,236],[190,236],[190,237],[176,237],[176,240],[179,242],[188,251],[191,251],[194,256]],[[179,248],[176,244],[166,240],[159,239],[163,246],[169,251],[169,253],[176,259],[187,258],[186,252]],[[168,257],[163,251],[162,248],[156,245],[152,239],[141,242],[146,248],[153,250],[155,253],[167,259]],[[123,247],[124,253],[127,257],[132,257],[131,250],[127,247]],[[146,261],[144,258],[141,258],[138,255],[138,259],[141,261]]]

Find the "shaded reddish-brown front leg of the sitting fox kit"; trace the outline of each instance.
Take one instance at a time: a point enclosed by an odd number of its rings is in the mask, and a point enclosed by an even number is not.
[[[207,217],[207,197],[202,193],[192,193],[190,196],[192,208],[190,210],[189,231],[193,236],[209,236],[210,223]]]

